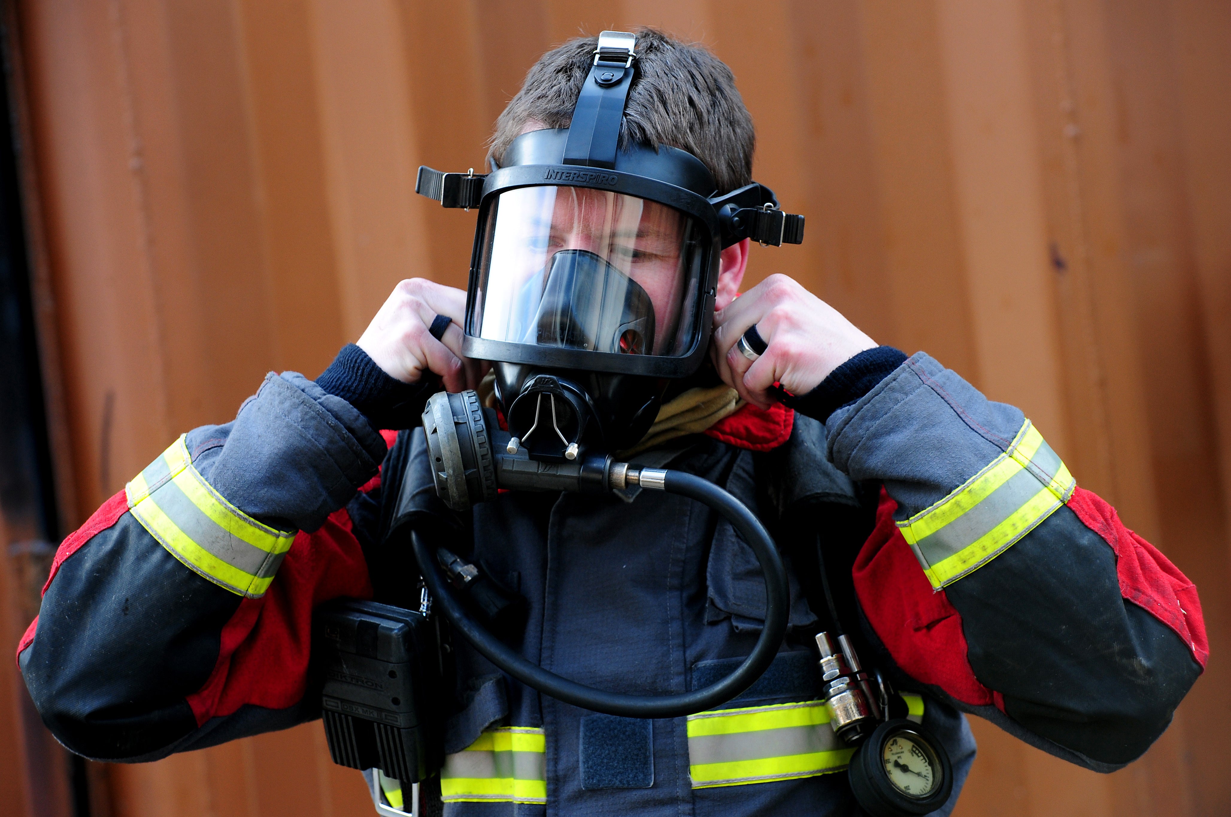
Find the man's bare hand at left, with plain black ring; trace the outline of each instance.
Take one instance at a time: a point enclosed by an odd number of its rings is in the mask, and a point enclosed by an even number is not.
[[[428,331],[438,314],[453,320],[441,340]],[[451,392],[476,388],[486,365],[462,356],[464,317],[464,290],[409,278],[394,287],[356,345],[387,375],[404,383],[416,383],[431,371]]]

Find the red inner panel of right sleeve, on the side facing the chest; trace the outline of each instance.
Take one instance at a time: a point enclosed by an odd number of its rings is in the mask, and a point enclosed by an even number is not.
[[[856,558],[856,593],[873,630],[911,678],[939,686],[964,704],[993,704],[966,659],[961,616],[943,590],[932,591],[918,559],[894,524],[897,503],[884,489],[876,527]]]

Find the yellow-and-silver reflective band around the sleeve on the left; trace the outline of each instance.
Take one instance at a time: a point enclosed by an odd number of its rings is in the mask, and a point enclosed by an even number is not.
[[[133,516],[171,556],[249,598],[265,595],[295,537],[262,525],[214,490],[192,465],[182,435],[124,493]]]

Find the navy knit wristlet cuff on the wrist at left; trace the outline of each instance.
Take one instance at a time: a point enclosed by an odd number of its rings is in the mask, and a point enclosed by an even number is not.
[[[358,409],[377,429],[409,429],[419,423],[422,403],[436,391],[435,377],[403,383],[390,377],[368,354],[347,344],[316,384]]]

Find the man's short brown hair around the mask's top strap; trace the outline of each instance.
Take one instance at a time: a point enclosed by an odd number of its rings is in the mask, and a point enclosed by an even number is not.
[[[597,46],[597,37],[570,39],[534,63],[522,90],[496,120],[490,155],[497,164],[528,121],[569,127]],[[629,140],[687,150],[714,174],[720,193],[752,181],[756,133],[731,69],[700,46],[655,28],[636,31],[636,74],[624,107],[620,147]]]

